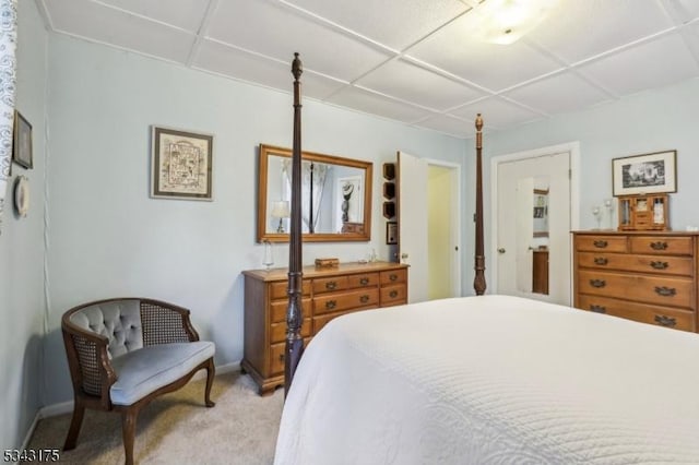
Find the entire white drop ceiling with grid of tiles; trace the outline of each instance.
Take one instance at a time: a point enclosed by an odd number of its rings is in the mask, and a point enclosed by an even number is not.
[[[470,35],[477,1],[36,0],[55,33],[283,92],[298,51],[305,98],[459,138],[699,76],[697,0],[561,0],[508,46]]]

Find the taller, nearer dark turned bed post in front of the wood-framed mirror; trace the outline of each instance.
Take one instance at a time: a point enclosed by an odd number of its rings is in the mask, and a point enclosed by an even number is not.
[[[286,308],[286,347],[284,351],[284,398],[288,394],[301,354],[301,83],[304,72],[298,53],[294,53],[292,74],[294,74],[294,146],[292,150],[292,224],[288,248],[288,306]]]

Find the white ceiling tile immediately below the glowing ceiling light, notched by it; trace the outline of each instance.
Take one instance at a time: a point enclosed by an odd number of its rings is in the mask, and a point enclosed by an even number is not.
[[[547,74],[560,65],[521,40],[486,44],[470,35],[469,13],[407,50],[406,55],[491,91]]]

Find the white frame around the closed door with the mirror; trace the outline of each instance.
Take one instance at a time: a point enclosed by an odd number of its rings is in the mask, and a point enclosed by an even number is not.
[[[498,253],[498,167],[502,163],[537,158],[547,155],[555,155],[568,152],[570,154],[570,229],[580,228],[580,142],[567,142],[558,145],[533,148],[523,152],[516,152],[490,157],[490,284],[494,294],[498,291],[498,261],[495,259]],[[568,238],[570,243],[572,239]],[[572,299],[572,247],[570,247],[569,286],[570,298]],[[568,305],[572,305],[569,301]]]

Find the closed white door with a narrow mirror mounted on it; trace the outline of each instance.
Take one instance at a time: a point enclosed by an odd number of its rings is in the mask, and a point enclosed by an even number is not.
[[[569,152],[497,164],[498,294],[570,303],[570,167]]]

